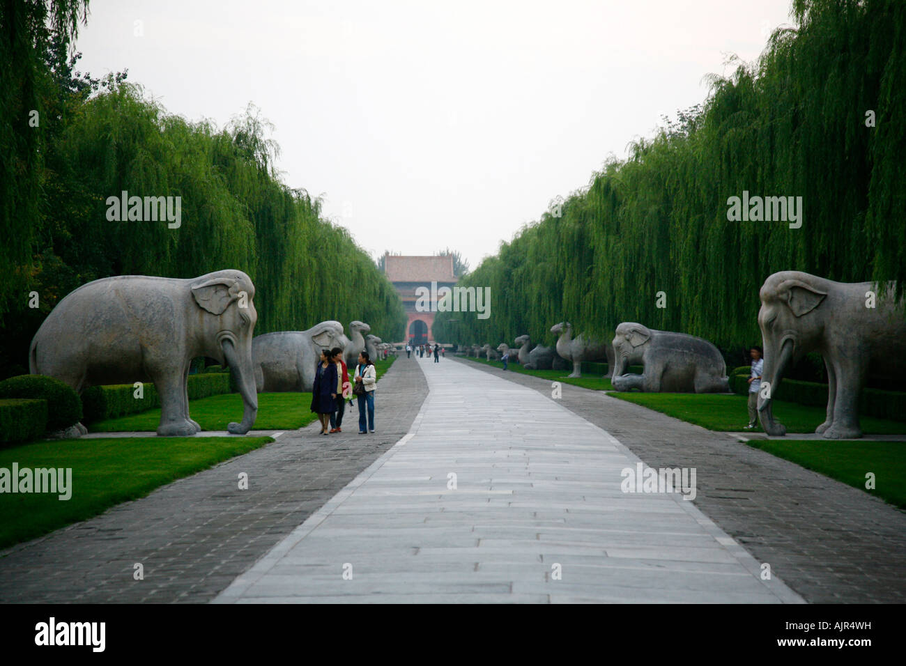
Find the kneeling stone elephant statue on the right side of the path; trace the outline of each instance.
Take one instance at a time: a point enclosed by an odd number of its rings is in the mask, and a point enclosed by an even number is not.
[[[613,337],[616,364],[611,378],[617,391],[646,393],[725,393],[730,390],[727,364],[718,348],[686,333],[655,331],[623,322]],[[641,374],[623,374],[641,363]]]

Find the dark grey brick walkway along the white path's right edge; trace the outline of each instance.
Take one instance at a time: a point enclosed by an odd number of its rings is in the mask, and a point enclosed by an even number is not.
[[[550,398],[550,381],[459,363]],[[602,391],[565,383],[562,389],[559,404],[611,432],[651,467],[698,468],[695,505],[806,601],[906,601],[903,511],[728,434]]]

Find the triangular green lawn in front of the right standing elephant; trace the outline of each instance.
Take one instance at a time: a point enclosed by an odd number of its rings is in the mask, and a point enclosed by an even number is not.
[[[750,439],[748,445],[906,508],[906,442]],[[865,475],[874,473],[874,489]]]

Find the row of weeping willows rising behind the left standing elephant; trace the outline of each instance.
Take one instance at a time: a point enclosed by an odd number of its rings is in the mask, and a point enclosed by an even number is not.
[[[254,108],[226,128],[189,122],[145,99],[139,86],[108,82],[81,102],[49,145],[45,213],[34,234],[24,308],[7,365],[24,365],[28,341],[53,305],[109,275],[194,277],[223,268],[255,282],[256,333],[359,319],[400,340],[400,298],[349,232],[321,215],[320,201],[288,188],[274,169],[275,144]],[[181,225],[108,218],[108,198],[179,197]],[[21,260],[20,260],[21,261]]]

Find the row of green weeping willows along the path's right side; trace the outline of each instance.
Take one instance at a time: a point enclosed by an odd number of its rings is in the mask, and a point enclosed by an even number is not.
[[[902,293],[906,4],[792,9],[797,27],[772,34],[756,63],[713,77],[702,107],[631,144],[558,217],[467,275],[461,286],[491,286],[490,318],[439,313],[435,337],[551,343],[564,319],[601,338],[639,321],[727,351],[760,340],[758,290],[779,270],[898,280]],[[802,227],[729,221],[728,198],[743,191],[802,197]]]

